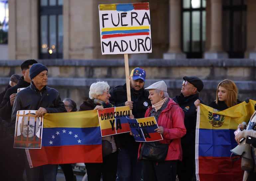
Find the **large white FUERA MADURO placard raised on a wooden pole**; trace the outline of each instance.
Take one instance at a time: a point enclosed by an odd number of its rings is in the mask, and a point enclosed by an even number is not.
[[[100,4],[102,54],[151,53],[149,3]]]

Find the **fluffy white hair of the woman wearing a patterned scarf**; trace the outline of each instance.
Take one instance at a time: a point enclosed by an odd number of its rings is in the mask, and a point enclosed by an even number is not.
[[[109,85],[106,81],[97,81],[92,83],[89,91],[90,99],[97,99],[97,96],[102,95],[104,92],[109,90]]]

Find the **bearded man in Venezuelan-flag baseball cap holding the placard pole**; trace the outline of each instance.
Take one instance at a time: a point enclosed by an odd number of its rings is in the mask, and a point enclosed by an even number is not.
[[[144,118],[145,112],[151,102],[148,99],[149,92],[144,89],[146,81],[146,71],[136,67],[129,76],[131,87],[131,101],[127,101],[126,84],[119,85],[111,89],[109,101],[116,106],[130,106],[135,118]],[[117,179],[140,180],[142,162],[137,161],[139,142],[136,142],[130,133],[119,134],[120,150],[118,152]],[[127,171],[128,170],[128,171]]]

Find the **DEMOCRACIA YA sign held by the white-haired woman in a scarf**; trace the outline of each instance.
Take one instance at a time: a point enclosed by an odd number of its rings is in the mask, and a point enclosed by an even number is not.
[[[110,136],[130,132],[126,117],[130,116],[130,107],[121,106],[98,110],[101,136]]]

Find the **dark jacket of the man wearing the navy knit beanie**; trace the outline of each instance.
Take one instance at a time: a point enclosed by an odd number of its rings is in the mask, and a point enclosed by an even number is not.
[[[56,89],[45,86],[39,91],[33,84],[33,81],[31,81],[29,87],[16,94],[11,124],[8,127],[8,135],[14,135],[16,113],[18,110],[38,110],[40,107],[45,108],[48,113],[66,112],[60,93]]]

